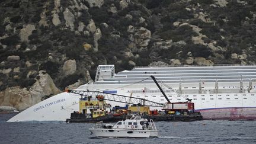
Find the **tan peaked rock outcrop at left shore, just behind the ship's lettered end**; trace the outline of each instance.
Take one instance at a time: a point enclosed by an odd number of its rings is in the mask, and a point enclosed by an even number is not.
[[[38,79],[30,89],[9,87],[1,91],[0,105],[14,107],[17,110],[25,110],[31,105],[60,92],[53,83],[52,78],[45,71],[40,71]]]

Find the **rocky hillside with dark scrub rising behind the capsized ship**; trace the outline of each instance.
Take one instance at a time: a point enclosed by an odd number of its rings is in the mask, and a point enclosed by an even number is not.
[[[256,62],[254,0],[3,0],[0,12],[0,105],[18,110],[100,64]]]

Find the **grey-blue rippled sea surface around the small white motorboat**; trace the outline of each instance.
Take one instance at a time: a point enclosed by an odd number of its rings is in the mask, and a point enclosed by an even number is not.
[[[92,123],[7,123],[14,114],[0,114],[0,143],[256,143],[256,121],[204,120],[155,122],[158,138],[98,138]]]

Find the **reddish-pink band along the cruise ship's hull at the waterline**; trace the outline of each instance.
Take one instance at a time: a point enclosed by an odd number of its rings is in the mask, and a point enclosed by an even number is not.
[[[256,108],[213,108],[200,111],[204,120],[256,120]]]

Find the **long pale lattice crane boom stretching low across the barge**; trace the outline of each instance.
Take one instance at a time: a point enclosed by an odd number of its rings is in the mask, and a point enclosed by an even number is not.
[[[78,91],[78,90],[67,90],[66,92],[71,92],[73,94],[83,95],[85,97],[97,97],[99,95],[103,96],[103,100],[108,101],[116,101],[119,103],[125,104],[142,104],[145,106],[151,107],[163,107],[164,104],[156,103],[155,101],[149,101],[144,98],[136,98],[126,95],[118,95],[118,94],[109,94],[107,92],[101,91]]]

